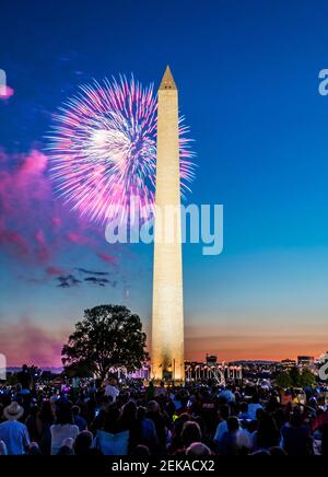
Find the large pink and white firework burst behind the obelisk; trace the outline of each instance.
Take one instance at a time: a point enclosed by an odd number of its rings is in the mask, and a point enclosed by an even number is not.
[[[157,101],[133,77],[80,86],[55,116],[51,177],[72,209],[105,222],[129,212],[133,197],[154,203]],[[188,128],[179,119],[181,195],[194,178]]]

